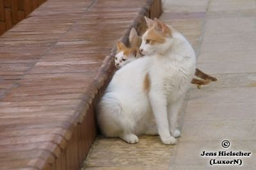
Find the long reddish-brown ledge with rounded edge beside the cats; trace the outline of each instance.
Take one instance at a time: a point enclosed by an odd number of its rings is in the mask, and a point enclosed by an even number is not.
[[[159,0],[48,0],[0,36],[0,169],[79,169],[116,40]],[[107,57],[106,57],[107,56]]]

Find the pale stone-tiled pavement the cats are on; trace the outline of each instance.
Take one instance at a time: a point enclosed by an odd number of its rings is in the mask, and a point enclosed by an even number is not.
[[[255,169],[256,11],[253,0],[164,0],[160,19],[183,33],[198,54],[198,68],[218,77],[191,87],[180,116],[182,136],[175,146],[159,137],[138,144],[99,137],[86,161],[98,169]],[[221,142],[230,141],[229,148]],[[201,157],[202,151],[249,151],[251,157]],[[241,158],[237,165],[209,161]]]

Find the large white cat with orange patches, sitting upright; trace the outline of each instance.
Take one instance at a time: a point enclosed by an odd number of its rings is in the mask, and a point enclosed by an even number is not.
[[[140,50],[146,56],[118,70],[97,113],[102,134],[138,143],[154,115],[164,144],[175,144],[177,115],[195,73],[195,52],[184,36],[157,19],[147,21]],[[171,135],[172,134],[172,135]]]

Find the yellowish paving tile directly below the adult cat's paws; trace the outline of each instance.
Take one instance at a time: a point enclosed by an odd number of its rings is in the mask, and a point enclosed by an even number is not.
[[[165,164],[173,157],[175,146],[161,143],[158,136],[141,136],[138,144],[127,144],[122,139],[99,138],[92,146],[86,166],[129,166],[147,167]]]

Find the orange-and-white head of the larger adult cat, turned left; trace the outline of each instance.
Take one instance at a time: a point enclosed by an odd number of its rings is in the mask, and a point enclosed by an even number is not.
[[[142,36],[140,52],[147,56],[152,56],[156,53],[164,54],[172,46],[172,43],[173,38],[170,28],[157,19],[150,20],[148,29]]]

